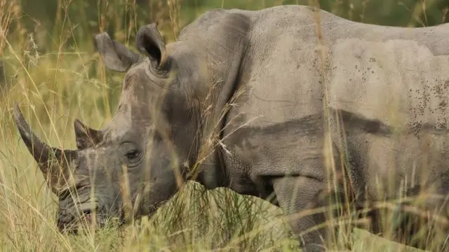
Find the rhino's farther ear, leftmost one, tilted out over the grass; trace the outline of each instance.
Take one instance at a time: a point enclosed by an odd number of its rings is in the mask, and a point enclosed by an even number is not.
[[[94,38],[95,50],[100,53],[102,62],[108,69],[125,72],[135,62],[138,62],[138,54],[114,41],[107,32],[97,34]]]

